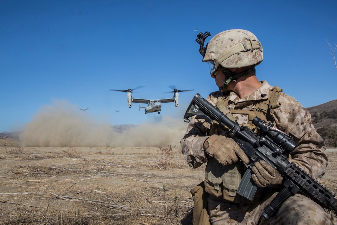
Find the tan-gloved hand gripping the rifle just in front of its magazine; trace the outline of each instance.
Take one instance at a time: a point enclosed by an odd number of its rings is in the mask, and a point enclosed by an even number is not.
[[[276,188],[282,184],[283,177],[281,174],[264,160],[256,161],[252,171],[252,179],[260,188]]]

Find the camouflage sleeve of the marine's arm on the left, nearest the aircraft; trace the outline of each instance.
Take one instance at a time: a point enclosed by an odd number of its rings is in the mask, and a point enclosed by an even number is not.
[[[220,92],[211,93],[206,100],[213,105],[216,104]],[[209,138],[209,129],[211,124],[204,119],[195,119],[191,117],[187,131],[180,141],[181,152],[183,153],[188,165],[193,169],[207,163],[204,150],[204,143]]]

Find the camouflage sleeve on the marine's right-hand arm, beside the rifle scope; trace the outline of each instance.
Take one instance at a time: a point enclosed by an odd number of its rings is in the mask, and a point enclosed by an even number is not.
[[[323,138],[316,132],[310,113],[298,101],[281,92],[279,102],[281,107],[274,110],[277,128],[291,135],[297,143],[289,161],[319,181],[328,165]]]

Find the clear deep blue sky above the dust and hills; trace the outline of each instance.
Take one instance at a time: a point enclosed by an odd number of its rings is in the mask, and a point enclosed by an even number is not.
[[[0,132],[22,129],[63,100],[111,125],[182,119],[195,93],[217,90],[195,42],[205,31],[253,32],[264,48],[257,77],[304,107],[337,99],[327,44],[337,43],[336,9],[336,0],[0,0]],[[160,115],[128,108],[126,93],[109,91],[139,85],[134,98],[171,98],[168,85],[194,91],[180,93],[178,108],[163,104]]]

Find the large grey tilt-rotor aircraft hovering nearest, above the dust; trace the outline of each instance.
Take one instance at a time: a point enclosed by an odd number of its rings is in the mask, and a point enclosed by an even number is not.
[[[158,114],[160,114],[161,111],[161,103],[168,103],[168,102],[174,102],[176,107],[179,106],[179,92],[186,92],[186,91],[193,91],[193,90],[178,90],[176,89],[175,86],[168,86],[171,89],[173,89],[172,92],[168,92],[168,93],[174,93],[173,94],[173,98],[164,98],[164,99],[140,99],[140,98],[132,98],[131,92],[139,89],[141,87],[144,86],[138,86],[134,89],[128,89],[128,90],[116,90],[116,89],[110,89],[110,91],[118,91],[118,92],[126,92],[127,93],[127,102],[129,104],[129,108],[131,108],[132,106],[132,102],[134,103],[139,103],[139,110],[141,110],[141,108],[145,108],[145,114],[148,113],[154,113],[157,112]],[[148,104],[148,106],[146,107],[141,107],[141,103],[144,104]]]

